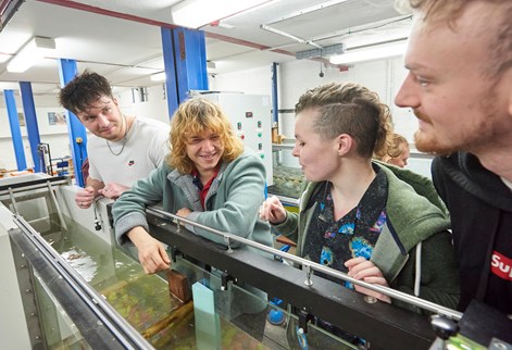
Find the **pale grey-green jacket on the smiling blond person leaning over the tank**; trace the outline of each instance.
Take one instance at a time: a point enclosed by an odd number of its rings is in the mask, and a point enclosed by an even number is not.
[[[163,210],[176,213],[182,208],[192,210],[188,216],[196,223],[227,232],[272,247],[269,223],[259,218],[264,200],[265,167],[254,153],[243,152],[233,162],[221,165],[213,180],[203,211],[192,176],[180,174],[167,164],[139,179],[114,203],[115,237],[120,245],[128,241],[125,234],[136,226],[148,230],[146,207],[162,202]],[[224,245],[224,239],[207,230],[187,225],[197,235]]]

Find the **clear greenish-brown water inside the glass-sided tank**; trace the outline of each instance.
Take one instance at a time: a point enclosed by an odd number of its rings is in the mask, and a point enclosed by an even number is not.
[[[47,226],[42,236],[153,347],[203,348],[203,336],[195,329],[193,307],[184,305],[174,298],[164,278],[146,275],[140,264],[124,250],[110,247],[72,220],[66,218],[66,230]],[[203,271],[198,273],[202,276],[208,274]],[[218,342],[210,342],[212,347],[209,348],[269,349],[223,317],[220,317],[220,325]]]

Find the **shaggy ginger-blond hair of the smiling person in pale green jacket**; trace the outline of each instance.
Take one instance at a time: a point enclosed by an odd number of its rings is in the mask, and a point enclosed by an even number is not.
[[[171,153],[166,163],[182,174],[190,174],[193,162],[187,155],[187,141],[189,137],[201,135],[204,132],[218,135],[224,153],[223,162],[232,162],[243,152],[243,143],[235,135],[228,117],[221,107],[204,98],[192,98],[183,102],[171,121]]]

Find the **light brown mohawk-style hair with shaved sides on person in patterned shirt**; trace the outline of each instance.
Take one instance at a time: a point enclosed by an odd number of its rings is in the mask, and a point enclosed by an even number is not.
[[[392,130],[389,108],[378,95],[354,83],[330,83],[308,90],[296,104],[296,114],[305,109],[320,113],[313,129],[323,139],[349,134],[361,157],[382,155]]]

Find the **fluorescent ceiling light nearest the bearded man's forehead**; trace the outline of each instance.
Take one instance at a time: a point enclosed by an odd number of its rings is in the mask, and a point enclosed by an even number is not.
[[[330,63],[333,64],[350,64],[357,62],[375,61],[397,55],[405,52],[407,42],[395,42],[389,45],[379,45],[360,50],[347,50],[346,53],[333,55]]]

